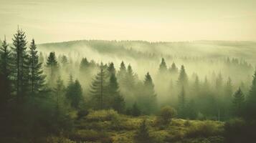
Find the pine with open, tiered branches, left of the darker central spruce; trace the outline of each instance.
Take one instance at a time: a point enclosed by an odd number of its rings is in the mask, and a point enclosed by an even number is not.
[[[93,104],[96,109],[105,109],[105,98],[107,89],[107,82],[106,82],[106,73],[103,66],[103,63],[100,64],[100,71],[96,75],[93,83],[90,86],[90,94],[93,99]]]

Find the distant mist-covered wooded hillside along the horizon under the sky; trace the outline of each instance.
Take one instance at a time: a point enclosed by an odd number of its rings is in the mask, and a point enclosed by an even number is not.
[[[173,58],[193,56],[214,59],[234,57],[253,63],[256,59],[256,42],[254,41],[181,41],[181,42],[148,42],[148,41],[101,41],[81,40],[60,43],[40,44],[40,50],[76,52],[83,56],[103,54],[118,58],[156,58],[171,56]],[[101,59],[102,60],[102,59]],[[254,63],[253,63],[254,64]]]

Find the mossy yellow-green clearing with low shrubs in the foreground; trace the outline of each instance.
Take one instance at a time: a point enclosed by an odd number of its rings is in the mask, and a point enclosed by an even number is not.
[[[77,119],[68,142],[136,142],[143,119],[146,119],[152,142],[224,142],[224,122],[172,119],[170,124],[159,125],[156,116],[129,117],[113,110],[90,112]]]

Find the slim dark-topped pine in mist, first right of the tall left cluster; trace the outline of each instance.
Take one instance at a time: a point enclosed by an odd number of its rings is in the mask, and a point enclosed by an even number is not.
[[[52,51],[49,53],[48,59],[47,59],[47,67],[49,68],[49,86],[53,87],[54,82],[56,79],[56,72],[58,69],[58,62],[55,56],[55,53]]]

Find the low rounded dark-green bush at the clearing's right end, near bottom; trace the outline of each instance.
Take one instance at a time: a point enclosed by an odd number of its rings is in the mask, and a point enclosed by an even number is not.
[[[211,137],[222,133],[217,124],[212,122],[202,122],[192,125],[186,132],[186,137]]]

